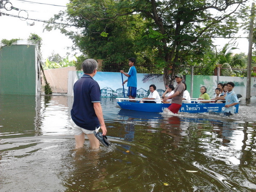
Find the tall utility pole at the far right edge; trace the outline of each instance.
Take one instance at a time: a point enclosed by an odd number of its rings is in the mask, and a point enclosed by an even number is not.
[[[251,100],[251,69],[252,69],[252,39],[253,39],[253,20],[255,3],[252,3],[250,31],[249,31],[249,49],[248,49],[248,62],[247,62],[247,81],[246,81],[246,101]]]

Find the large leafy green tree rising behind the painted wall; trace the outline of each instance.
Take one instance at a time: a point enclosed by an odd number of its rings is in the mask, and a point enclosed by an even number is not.
[[[110,37],[118,48],[127,43],[129,48],[136,46],[141,53],[154,57],[158,67],[163,68],[164,84],[168,85],[182,64],[204,55],[212,45],[212,37],[227,37],[237,32],[236,13],[247,1],[72,0],[67,5],[67,19],[82,30],[80,36],[67,31],[66,34],[78,42],[80,48],[86,47],[90,39],[97,39],[94,50],[86,48],[85,52],[95,51],[103,59],[110,54],[109,50],[98,47],[104,44],[106,48]],[[59,16],[63,17],[63,13]],[[123,36],[117,35],[115,30]],[[139,49],[131,50],[135,55]],[[129,50],[128,54],[132,55]]]

